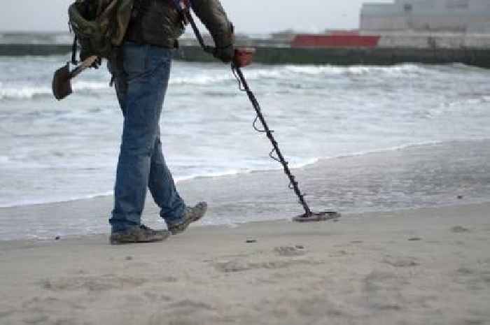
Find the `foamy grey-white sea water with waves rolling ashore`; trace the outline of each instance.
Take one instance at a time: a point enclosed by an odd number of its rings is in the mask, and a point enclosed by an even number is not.
[[[105,68],[55,101],[66,57],[0,58],[0,206],[111,194],[123,119]],[[490,71],[425,66],[244,70],[292,166],[414,144],[489,138]],[[160,121],[177,180],[279,169],[228,66],[174,62]]]

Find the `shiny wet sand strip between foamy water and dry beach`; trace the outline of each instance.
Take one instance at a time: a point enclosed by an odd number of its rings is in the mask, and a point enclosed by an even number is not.
[[[454,141],[323,159],[293,173],[312,210],[364,213],[486,202],[489,161],[490,140]],[[188,204],[209,203],[200,225],[289,219],[302,213],[282,171],[195,178],[177,187]],[[0,208],[0,238],[106,233],[112,208],[112,196]],[[165,226],[150,194],[142,222]]]

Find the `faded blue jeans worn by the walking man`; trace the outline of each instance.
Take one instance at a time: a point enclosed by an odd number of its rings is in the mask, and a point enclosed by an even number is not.
[[[126,42],[123,64],[109,63],[124,115],[112,231],[141,224],[147,189],[167,223],[179,222],[185,203],[176,190],[162,154],[160,114],[169,82],[174,50]]]

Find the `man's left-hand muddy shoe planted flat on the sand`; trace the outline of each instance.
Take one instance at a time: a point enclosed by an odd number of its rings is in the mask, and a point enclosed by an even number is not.
[[[134,226],[126,231],[111,233],[111,245],[161,242],[170,236],[169,231],[153,230],[147,226]]]

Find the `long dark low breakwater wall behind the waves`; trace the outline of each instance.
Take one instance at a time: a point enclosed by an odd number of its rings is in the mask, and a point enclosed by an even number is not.
[[[0,56],[66,55],[71,45],[0,44]],[[195,45],[181,46],[176,59],[188,62],[212,62],[214,58]],[[404,62],[447,64],[459,62],[490,68],[490,48],[257,48],[255,62],[262,64],[373,64],[390,65]]]

